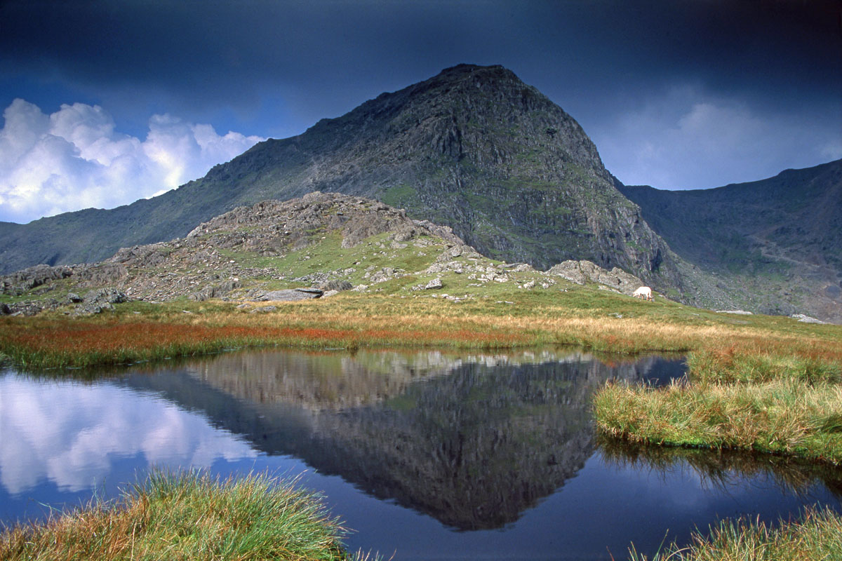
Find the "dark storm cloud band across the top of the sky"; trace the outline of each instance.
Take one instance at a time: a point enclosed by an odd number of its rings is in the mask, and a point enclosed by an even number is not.
[[[821,0],[26,0],[5,3],[0,17],[6,71],[199,104],[253,105],[264,89],[290,84],[341,99],[338,84],[351,95],[399,87],[456,61],[550,71],[573,95],[664,79],[769,98],[805,87],[838,94],[842,84],[838,3]]]

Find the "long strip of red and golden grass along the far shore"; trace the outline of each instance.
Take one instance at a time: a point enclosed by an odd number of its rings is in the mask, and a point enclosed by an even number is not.
[[[824,329],[786,318],[729,318],[687,312],[677,304],[627,302],[603,296],[584,308],[546,297],[513,297],[513,303],[461,304],[394,295],[341,295],[329,300],[274,304],[248,313],[235,303],[119,304],[117,312],[73,319],[52,312],[0,317],[0,353],[22,368],[79,368],[131,363],[232,347],[445,347],[525,348],[546,345],[600,352],[708,352],[801,357],[813,366],[842,363],[842,326]],[[608,315],[620,308],[624,317]],[[694,309],[695,310],[695,309]],[[704,310],[702,310],[704,311]],[[727,347],[722,341],[727,341]],[[717,355],[718,356],[718,355]],[[722,370],[733,364],[720,361]]]

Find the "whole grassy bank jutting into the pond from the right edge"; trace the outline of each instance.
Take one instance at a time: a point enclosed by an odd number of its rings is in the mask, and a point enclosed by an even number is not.
[[[701,348],[686,383],[606,384],[598,430],[628,442],[752,450],[842,463],[839,345]]]

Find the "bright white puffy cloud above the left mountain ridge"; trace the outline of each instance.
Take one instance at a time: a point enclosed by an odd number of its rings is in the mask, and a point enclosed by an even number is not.
[[[44,114],[15,99],[0,130],[0,220],[27,222],[69,210],[111,208],[201,177],[254,146],[258,136],[169,114],[152,115],[145,140],[115,130],[99,105]]]

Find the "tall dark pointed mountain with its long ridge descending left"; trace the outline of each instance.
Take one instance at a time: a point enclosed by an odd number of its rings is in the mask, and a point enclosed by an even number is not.
[[[316,190],[402,207],[489,257],[539,268],[586,259],[657,288],[681,284],[674,255],[578,123],[502,66],[471,65],[262,142],[156,198],[0,224],[0,272],[99,261],[243,204]]]

